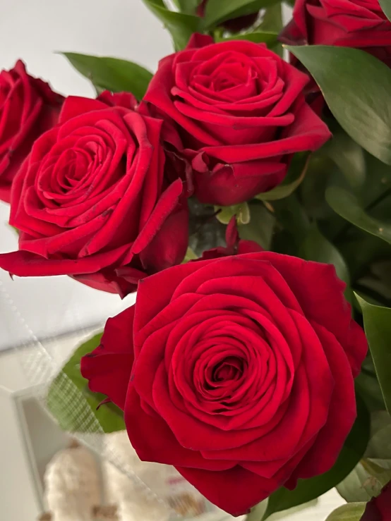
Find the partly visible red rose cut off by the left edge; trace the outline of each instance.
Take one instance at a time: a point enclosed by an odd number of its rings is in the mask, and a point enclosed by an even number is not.
[[[55,125],[64,98],[26,73],[18,60],[0,72],[0,199],[10,201],[11,184],[32,143]]]

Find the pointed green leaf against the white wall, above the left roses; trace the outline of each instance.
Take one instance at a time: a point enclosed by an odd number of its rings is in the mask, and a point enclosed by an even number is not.
[[[98,91],[132,92],[136,98],[142,99],[152,79],[150,71],[131,61],[74,52],[62,54]]]

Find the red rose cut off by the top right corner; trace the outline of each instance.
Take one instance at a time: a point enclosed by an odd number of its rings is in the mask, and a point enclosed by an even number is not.
[[[297,0],[279,39],[363,49],[391,66],[391,23],[378,0]]]

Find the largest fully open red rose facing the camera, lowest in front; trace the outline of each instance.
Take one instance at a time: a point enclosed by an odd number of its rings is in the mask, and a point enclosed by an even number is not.
[[[140,281],[81,370],[142,460],[239,515],[329,470],[351,430],[367,344],[343,291],[333,266],[273,252],[175,266]]]

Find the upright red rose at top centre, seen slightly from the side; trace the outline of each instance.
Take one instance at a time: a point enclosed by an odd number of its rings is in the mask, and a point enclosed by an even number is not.
[[[294,152],[330,137],[304,100],[307,83],[265,44],[193,35],[160,62],[144,101],[176,126],[198,200],[229,206],[274,188]],[[169,137],[166,147],[176,148]]]

